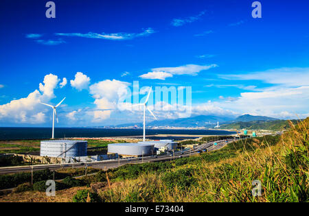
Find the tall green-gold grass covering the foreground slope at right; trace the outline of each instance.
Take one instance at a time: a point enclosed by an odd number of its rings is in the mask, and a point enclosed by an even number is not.
[[[219,156],[206,153],[123,178],[100,196],[104,202],[308,202],[309,118],[289,123],[279,142],[268,136],[233,143]],[[252,195],[254,180],[261,196]]]

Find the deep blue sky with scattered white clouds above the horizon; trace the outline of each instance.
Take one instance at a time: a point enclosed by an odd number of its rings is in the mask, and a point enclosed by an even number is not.
[[[141,121],[115,105],[133,81],[192,86],[192,115],[309,114],[307,1],[46,2],[0,3],[0,126],[50,125],[39,101],[63,97],[59,126]]]

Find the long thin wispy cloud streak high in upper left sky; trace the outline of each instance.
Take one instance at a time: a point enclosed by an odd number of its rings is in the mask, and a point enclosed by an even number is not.
[[[69,37],[82,37],[82,38],[99,38],[99,39],[105,39],[105,40],[130,40],[137,37],[142,36],[149,36],[150,34],[154,34],[155,31],[148,27],[148,29],[145,29],[141,33],[112,33],[112,34],[105,34],[104,32],[102,34],[89,32],[86,34],[82,33],[56,33],[57,36],[69,36]]]

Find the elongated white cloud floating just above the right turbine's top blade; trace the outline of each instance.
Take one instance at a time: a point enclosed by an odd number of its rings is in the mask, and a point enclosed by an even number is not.
[[[145,73],[139,77],[144,79],[165,80],[165,78],[172,77],[173,75],[197,75],[201,71],[205,71],[214,67],[218,67],[218,65],[186,64],[180,67],[158,67],[151,69],[152,72]]]

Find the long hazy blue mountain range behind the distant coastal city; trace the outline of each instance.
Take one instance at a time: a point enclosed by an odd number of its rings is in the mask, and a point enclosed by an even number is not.
[[[171,127],[209,127],[213,128],[214,125],[219,121],[223,123],[226,121],[231,121],[231,117],[217,117],[214,115],[198,115],[195,117],[181,118],[181,119],[165,119],[159,121],[152,121],[147,123],[147,126],[157,127],[157,126],[171,126]],[[128,127],[137,125],[142,126],[142,123],[125,123],[117,125],[118,127]]]

